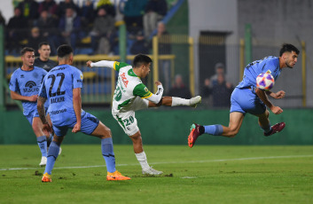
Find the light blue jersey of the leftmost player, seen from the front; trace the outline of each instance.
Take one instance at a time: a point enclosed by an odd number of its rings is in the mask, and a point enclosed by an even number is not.
[[[47,71],[40,67],[34,67],[30,71],[18,68],[11,76],[10,90],[19,93],[21,96],[30,97],[37,95],[45,75],[47,75]],[[37,102],[22,101],[22,106],[23,114],[28,115],[37,108]]]

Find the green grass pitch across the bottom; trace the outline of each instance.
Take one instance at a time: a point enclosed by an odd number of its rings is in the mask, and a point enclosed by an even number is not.
[[[42,183],[37,145],[0,145],[0,203],[313,203],[313,146],[144,145],[161,177],[144,177],[131,145],[114,145],[129,181],[106,181],[100,145],[62,145]]]

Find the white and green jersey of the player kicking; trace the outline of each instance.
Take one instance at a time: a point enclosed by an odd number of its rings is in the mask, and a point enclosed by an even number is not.
[[[115,61],[113,68],[119,72],[113,97],[113,113],[127,112],[131,110],[135,98],[149,98],[153,95],[129,64]]]

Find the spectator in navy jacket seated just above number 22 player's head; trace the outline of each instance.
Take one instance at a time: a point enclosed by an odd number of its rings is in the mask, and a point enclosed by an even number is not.
[[[83,37],[81,19],[76,15],[72,8],[67,8],[66,16],[59,20],[59,30],[67,44],[71,44],[75,49],[76,42]]]

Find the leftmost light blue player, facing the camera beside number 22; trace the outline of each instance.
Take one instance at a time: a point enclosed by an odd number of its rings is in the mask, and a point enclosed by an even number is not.
[[[23,114],[32,126],[37,143],[42,152],[42,160],[39,165],[44,166],[47,162],[47,140],[50,143],[51,137],[43,133],[43,123],[39,119],[36,100],[44,75],[47,71],[40,67],[34,67],[35,51],[32,48],[24,48],[20,51],[23,62],[22,67],[15,70],[10,80],[11,98],[20,100],[23,106]],[[48,105],[45,104],[47,107]],[[49,115],[47,115],[50,122]]]

